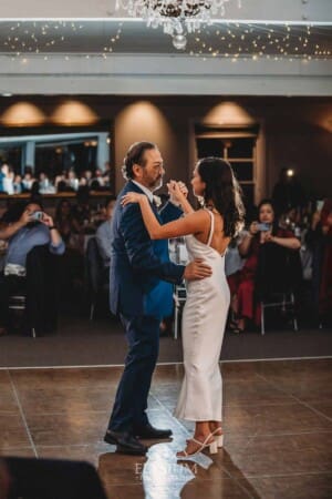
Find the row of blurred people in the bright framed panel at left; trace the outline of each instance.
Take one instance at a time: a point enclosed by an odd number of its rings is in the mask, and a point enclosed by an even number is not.
[[[76,192],[81,186],[89,186],[92,191],[102,191],[110,187],[111,165],[105,163],[104,170],[84,170],[77,175],[74,169],[65,170],[53,179],[41,171],[34,175],[31,166],[24,167],[23,175],[14,172],[13,167],[3,163],[0,167],[0,193],[21,194],[24,192],[40,192],[54,194],[58,192]]]

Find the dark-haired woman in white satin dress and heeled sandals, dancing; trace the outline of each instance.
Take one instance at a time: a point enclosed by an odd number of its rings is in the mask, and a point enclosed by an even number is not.
[[[201,258],[212,275],[187,283],[183,314],[185,378],[175,415],[196,422],[194,437],[178,457],[188,457],[209,447],[222,447],[222,380],[219,357],[229,307],[225,276],[225,252],[242,227],[245,210],[231,166],[219,157],[198,162],[191,180],[203,208],[194,211],[177,182],[168,190],[186,216],[160,225],[146,195],[128,193],[123,204],[139,203],[146,228],[153,240],[186,236],[189,259]]]

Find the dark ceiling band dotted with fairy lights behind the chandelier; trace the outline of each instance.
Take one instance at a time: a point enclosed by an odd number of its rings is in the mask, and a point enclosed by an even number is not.
[[[176,54],[162,28],[138,20],[0,20],[0,55]],[[188,55],[332,58],[332,26],[216,22],[188,35]]]

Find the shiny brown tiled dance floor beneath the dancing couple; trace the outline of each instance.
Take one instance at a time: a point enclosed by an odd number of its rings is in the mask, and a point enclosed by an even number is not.
[[[110,498],[331,498],[332,359],[227,363],[221,371],[225,448],[211,459],[175,457],[190,431],[172,416],[180,365],[156,369],[149,418],[173,439],[154,442],[146,458],[103,442],[121,368],[0,370],[0,451],[91,461]]]

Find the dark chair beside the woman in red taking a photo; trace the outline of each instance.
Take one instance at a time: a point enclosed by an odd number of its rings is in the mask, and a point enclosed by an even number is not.
[[[276,244],[260,247],[256,276],[256,297],[261,307],[261,334],[266,333],[266,308],[281,307],[292,314],[293,329],[298,330],[295,292],[302,279],[301,259],[297,251]]]

